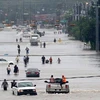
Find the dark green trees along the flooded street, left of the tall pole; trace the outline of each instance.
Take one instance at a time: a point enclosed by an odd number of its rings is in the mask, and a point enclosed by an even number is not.
[[[84,17],[80,16],[78,21],[70,21],[68,25],[69,35],[75,37],[76,40],[90,43],[91,50],[96,48],[96,10],[91,7],[88,14]]]

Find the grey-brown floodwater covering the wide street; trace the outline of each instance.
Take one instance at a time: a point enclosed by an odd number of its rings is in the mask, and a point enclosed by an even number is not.
[[[40,31],[44,31],[41,29]],[[17,56],[17,44],[21,46],[21,56],[18,64],[19,75],[13,74],[11,66],[11,75],[7,75],[7,65],[0,64],[0,85],[5,78],[9,80],[8,91],[0,88],[1,100],[99,100],[100,97],[100,55],[95,51],[83,50],[84,43],[70,40],[67,34],[54,34],[53,29],[45,29],[45,36],[41,37],[42,42],[46,42],[46,48],[40,46],[30,46],[29,39],[24,38],[23,43],[16,43],[18,35],[15,30],[5,29],[0,32],[0,58],[14,61]],[[54,43],[53,39],[57,42]],[[59,42],[61,38],[61,42]],[[40,78],[31,78],[36,84],[37,96],[22,95],[14,96],[10,88],[10,82],[16,80],[29,80],[26,78],[23,57],[26,54],[25,48],[29,47],[29,67],[40,69]],[[41,56],[46,59],[53,58],[53,64],[41,63]],[[61,58],[61,64],[57,63],[57,58]],[[59,78],[62,75],[69,81],[69,94],[47,94],[45,92],[46,83],[44,80],[54,75]]]

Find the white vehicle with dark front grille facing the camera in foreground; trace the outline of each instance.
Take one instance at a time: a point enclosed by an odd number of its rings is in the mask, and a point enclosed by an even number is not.
[[[37,95],[36,85],[33,85],[30,81],[19,81],[17,85],[12,88],[13,95]]]

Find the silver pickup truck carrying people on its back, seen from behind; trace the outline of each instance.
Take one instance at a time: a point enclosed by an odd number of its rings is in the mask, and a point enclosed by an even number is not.
[[[47,83],[46,92],[47,93],[69,93],[68,81],[65,84],[62,84],[62,87],[60,86],[60,81],[61,78],[55,78],[54,83],[45,81],[45,83]]]

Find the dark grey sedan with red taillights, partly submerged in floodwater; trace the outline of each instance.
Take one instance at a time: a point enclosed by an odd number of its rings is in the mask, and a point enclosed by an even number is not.
[[[26,77],[40,77],[40,70],[37,68],[28,68],[26,70]]]

